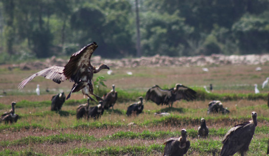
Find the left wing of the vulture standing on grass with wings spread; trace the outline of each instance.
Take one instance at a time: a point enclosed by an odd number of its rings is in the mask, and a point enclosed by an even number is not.
[[[163,90],[159,86],[155,85],[147,91],[145,99],[152,100],[159,105],[168,104],[170,98],[172,98],[171,90]]]

